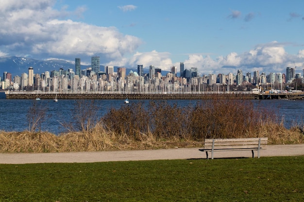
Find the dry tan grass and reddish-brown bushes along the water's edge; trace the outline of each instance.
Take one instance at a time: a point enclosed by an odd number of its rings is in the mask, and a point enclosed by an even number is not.
[[[94,105],[94,103],[91,103]],[[75,108],[76,109],[76,108]],[[202,146],[205,138],[268,137],[270,144],[303,142],[303,127],[287,129],[269,111],[247,100],[212,99],[195,106],[167,102],[110,109],[101,120],[86,106],[75,119],[78,131],[0,131],[0,152],[72,152]],[[90,117],[90,115],[92,117]]]

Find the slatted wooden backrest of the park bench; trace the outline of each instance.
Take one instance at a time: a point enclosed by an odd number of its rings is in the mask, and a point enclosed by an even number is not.
[[[238,138],[238,139],[205,139],[204,149],[250,149],[258,148],[260,140],[260,149],[267,146],[268,138]]]

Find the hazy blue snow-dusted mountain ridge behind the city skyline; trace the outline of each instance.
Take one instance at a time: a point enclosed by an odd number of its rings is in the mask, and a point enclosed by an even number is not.
[[[3,72],[11,73],[13,77],[21,76],[22,73],[29,72],[29,67],[34,68],[34,74],[42,74],[46,71],[52,70],[64,70],[73,69],[75,71],[75,62],[68,62],[65,60],[35,60],[24,57],[0,57],[0,77],[3,77]],[[81,65],[81,69],[90,67],[90,65]],[[114,66],[114,71],[117,72],[117,66]],[[130,71],[137,72],[136,68],[126,67],[126,74]],[[104,65],[101,65],[101,71],[104,71]],[[148,69],[144,69],[145,73],[148,73]],[[163,71],[162,75],[166,75],[168,71]]]

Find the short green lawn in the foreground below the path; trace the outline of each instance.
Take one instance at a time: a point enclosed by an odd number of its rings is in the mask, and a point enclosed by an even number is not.
[[[304,156],[0,164],[0,202],[299,202]]]

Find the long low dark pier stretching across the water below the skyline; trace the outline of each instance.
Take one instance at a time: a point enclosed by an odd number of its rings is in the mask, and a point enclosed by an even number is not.
[[[6,99],[304,99],[304,93],[113,93],[113,92],[12,92],[5,91]]]

